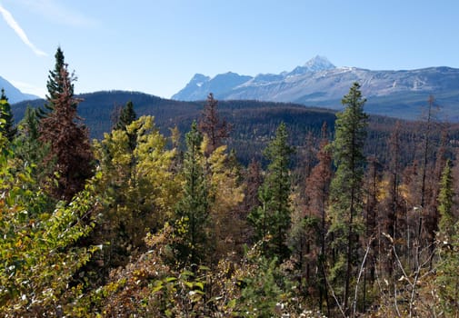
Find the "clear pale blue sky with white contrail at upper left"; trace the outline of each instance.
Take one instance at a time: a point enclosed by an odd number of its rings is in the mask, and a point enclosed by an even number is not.
[[[278,74],[315,55],[372,70],[459,68],[457,0],[0,0],[0,76],[46,94],[61,46],[75,93],[169,98],[196,73]]]

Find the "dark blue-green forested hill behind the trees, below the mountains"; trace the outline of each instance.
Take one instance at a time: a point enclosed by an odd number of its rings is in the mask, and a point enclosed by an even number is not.
[[[83,101],[78,105],[78,114],[85,119],[91,138],[101,139],[104,133],[111,130],[115,109],[131,101],[135,106],[136,114],[153,115],[155,123],[163,134],[169,134],[169,128],[177,127],[185,135],[191,123],[197,120],[203,110],[205,101],[181,102],[163,99],[150,94],[125,91],[107,91],[77,95]],[[429,96],[425,97],[427,104]],[[217,98],[217,96],[215,96]],[[306,143],[307,135],[314,136],[314,143],[320,137],[322,124],[328,126],[328,134],[334,135],[334,120],[336,111],[316,107],[305,107],[302,104],[273,103],[262,101],[219,101],[219,112],[233,124],[231,139],[228,145],[236,152],[237,158],[248,164],[254,157],[262,160],[262,150],[266,142],[274,136],[275,128],[284,122],[290,133],[290,142],[298,147],[301,153]],[[14,104],[13,114],[16,119],[23,118],[27,105],[40,107],[45,100],[34,100]],[[425,107],[424,104],[424,107]],[[406,121],[381,115],[370,115],[365,153],[376,155],[385,163],[387,160],[387,138],[393,131],[396,122],[401,123],[402,143],[404,143],[404,163],[413,159],[415,144],[421,134],[419,125],[422,119],[423,105],[419,107],[419,121]],[[447,124],[451,138],[459,140],[459,124]],[[310,136],[311,137],[311,136]],[[436,136],[440,138],[440,134]],[[294,158],[294,163],[299,159]]]

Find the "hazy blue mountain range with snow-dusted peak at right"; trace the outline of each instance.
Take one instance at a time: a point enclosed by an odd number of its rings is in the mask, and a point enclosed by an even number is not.
[[[220,100],[290,102],[341,109],[341,99],[354,82],[362,85],[367,98],[365,110],[404,119],[416,119],[430,94],[443,107],[443,117],[459,121],[459,69],[429,67],[409,71],[372,71],[357,67],[336,67],[316,56],[303,66],[281,74],[256,76],[226,73],[196,74],[172,98],[204,100],[214,93]]]

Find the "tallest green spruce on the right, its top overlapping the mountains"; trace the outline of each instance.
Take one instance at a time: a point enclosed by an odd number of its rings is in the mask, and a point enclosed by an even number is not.
[[[342,104],[345,109],[335,122],[334,164],[336,173],[331,185],[332,224],[334,235],[335,280],[344,279],[342,296],[344,311],[349,311],[350,283],[357,261],[358,235],[363,233],[361,214],[364,204],[364,141],[368,116],[360,84],[354,83]]]

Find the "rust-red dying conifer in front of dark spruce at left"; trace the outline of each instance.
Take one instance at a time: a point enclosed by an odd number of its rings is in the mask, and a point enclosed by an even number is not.
[[[68,74],[67,66],[61,69],[57,84],[63,90],[49,102],[55,109],[40,122],[40,141],[50,145],[50,153],[45,161],[55,161],[56,184],[50,184],[50,191],[58,200],[69,202],[74,194],[83,190],[85,180],[91,176],[93,154],[85,126],[77,122],[72,82],[75,78]]]

